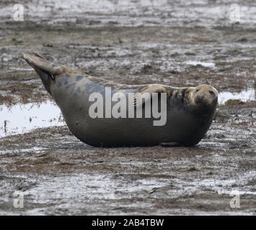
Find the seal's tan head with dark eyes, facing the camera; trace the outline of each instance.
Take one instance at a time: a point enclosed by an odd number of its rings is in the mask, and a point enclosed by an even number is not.
[[[193,105],[200,109],[216,109],[218,91],[208,85],[200,85],[190,91]]]

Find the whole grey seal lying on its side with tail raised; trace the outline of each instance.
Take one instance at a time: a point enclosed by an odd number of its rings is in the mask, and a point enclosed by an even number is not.
[[[161,84],[126,85],[92,77],[65,65],[50,63],[42,55],[22,53],[26,62],[40,76],[46,91],[50,93],[71,132],[82,142],[94,147],[122,146],[193,146],[208,131],[218,103],[218,91],[208,85],[196,87],[172,87]],[[92,118],[89,108],[92,93],[105,98],[106,88],[112,94],[134,93],[133,109],[152,100],[154,93],[167,96],[167,121],[163,126],[152,125],[153,118]],[[149,93],[141,99],[141,93]],[[138,103],[136,103],[138,101]],[[141,105],[140,105],[141,103]],[[105,105],[106,106],[106,105]],[[115,103],[111,105],[113,109]],[[104,107],[105,108],[105,107]]]

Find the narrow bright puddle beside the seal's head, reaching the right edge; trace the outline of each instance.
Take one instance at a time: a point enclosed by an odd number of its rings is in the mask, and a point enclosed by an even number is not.
[[[219,104],[224,104],[229,99],[237,99],[240,101],[253,101],[255,100],[255,88],[247,88],[239,93],[221,92],[219,93]]]

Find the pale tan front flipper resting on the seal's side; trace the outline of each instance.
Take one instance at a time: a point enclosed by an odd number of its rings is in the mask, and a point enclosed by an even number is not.
[[[151,100],[152,93],[167,93],[167,87],[154,84],[136,91],[133,101],[134,108],[142,106],[146,101]]]

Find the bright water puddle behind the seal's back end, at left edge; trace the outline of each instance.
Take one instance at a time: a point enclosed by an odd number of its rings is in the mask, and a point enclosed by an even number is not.
[[[0,137],[63,124],[61,110],[52,101],[0,106]]]

